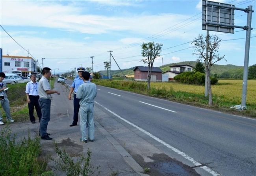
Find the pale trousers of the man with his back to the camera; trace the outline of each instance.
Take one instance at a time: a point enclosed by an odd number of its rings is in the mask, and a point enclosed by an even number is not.
[[[94,140],[94,103],[86,106],[81,106],[79,109],[79,115],[82,140],[87,139],[86,123],[88,124],[88,137],[90,140]]]

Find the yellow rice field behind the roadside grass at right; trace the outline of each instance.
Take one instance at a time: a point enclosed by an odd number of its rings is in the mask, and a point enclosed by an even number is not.
[[[241,103],[243,80],[219,80],[216,85],[211,86],[213,96],[224,102]],[[204,94],[204,86],[189,85],[177,82],[151,82],[150,85],[155,88],[165,87],[173,88],[174,91],[187,93]],[[256,106],[256,80],[248,80],[247,82],[247,98],[246,104]]]

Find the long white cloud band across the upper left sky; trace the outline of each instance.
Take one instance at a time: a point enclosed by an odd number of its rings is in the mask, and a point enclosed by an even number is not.
[[[119,1],[111,2],[120,3]],[[29,11],[26,10],[27,7],[30,7]],[[10,13],[13,9],[15,9],[15,13]],[[178,24],[180,21],[189,18],[189,16],[177,14],[103,16],[81,15],[82,13],[82,8],[74,6],[49,5],[43,2],[36,4],[31,1],[4,1],[2,2],[1,24],[3,26],[48,27],[87,34],[130,31],[143,35],[152,35],[165,29],[166,24]],[[17,14],[22,15],[17,16]],[[190,25],[191,28],[197,26],[197,23]],[[165,35],[165,37],[184,37],[184,35],[181,35],[182,33],[184,31],[177,29]]]

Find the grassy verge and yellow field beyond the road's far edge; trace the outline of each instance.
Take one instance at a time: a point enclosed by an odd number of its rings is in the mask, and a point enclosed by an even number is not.
[[[244,111],[230,108],[234,105],[241,104],[242,80],[219,80],[216,85],[212,85],[212,107],[208,106],[208,97],[204,97],[204,86],[201,85],[189,85],[177,82],[151,82],[151,89],[147,91],[146,82],[121,80],[93,80],[93,82],[98,85],[166,98],[171,101],[207,107],[231,114],[256,117],[256,80],[248,80],[247,109]]]

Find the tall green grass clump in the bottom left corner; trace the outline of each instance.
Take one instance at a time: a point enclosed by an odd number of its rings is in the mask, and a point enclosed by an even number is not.
[[[1,176],[38,176],[46,170],[39,137],[32,139],[28,135],[17,142],[6,126],[0,132],[0,153]]]

